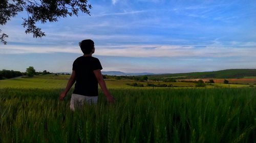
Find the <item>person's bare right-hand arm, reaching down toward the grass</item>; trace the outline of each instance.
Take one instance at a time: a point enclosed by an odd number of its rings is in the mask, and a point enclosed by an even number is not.
[[[94,70],[93,72],[98,80],[101,90],[103,91],[104,95],[106,96],[106,99],[109,102],[114,102],[114,97],[110,94],[109,90],[106,88],[106,83],[103,79],[100,69]]]

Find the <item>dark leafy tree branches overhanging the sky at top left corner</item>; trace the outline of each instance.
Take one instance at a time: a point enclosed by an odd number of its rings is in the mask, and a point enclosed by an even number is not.
[[[56,22],[61,17],[76,15],[78,12],[90,15],[89,9],[92,6],[87,0],[0,0],[0,24],[5,25],[11,17],[15,17],[18,12],[26,11],[28,16],[23,17],[23,27],[26,28],[25,33],[32,33],[33,37],[41,38],[46,36],[41,28],[36,26],[36,22]],[[8,35],[0,30],[0,40],[6,44],[5,38]]]

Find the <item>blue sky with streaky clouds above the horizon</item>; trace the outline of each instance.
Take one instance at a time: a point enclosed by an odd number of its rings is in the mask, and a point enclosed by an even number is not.
[[[91,16],[61,18],[25,34],[18,16],[1,25],[0,69],[71,72],[78,43],[95,42],[103,71],[180,73],[256,68],[256,1],[89,1]]]

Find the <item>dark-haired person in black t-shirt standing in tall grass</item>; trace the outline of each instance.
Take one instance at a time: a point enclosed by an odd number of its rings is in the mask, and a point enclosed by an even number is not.
[[[105,81],[101,74],[102,67],[97,58],[92,54],[95,51],[94,42],[90,39],[83,40],[79,43],[83,55],[78,57],[72,68],[72,75],[68,81],[65,91],[59,95],[62,101],[72,85],[75,83],[75,89],[71,96],[70,109],[75,110],[75,106],[81,108],[84,102],[97,103],[98,101],[98,83],[109,102],[114,102],[114,97],[106,88]]]

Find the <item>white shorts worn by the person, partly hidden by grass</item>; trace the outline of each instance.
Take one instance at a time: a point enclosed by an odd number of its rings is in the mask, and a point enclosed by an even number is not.
[[[81,109],[84,102],[87,102],[91,105],[95,104],[98,102],[98,96],[83,96],[79,94],[72,94],[70,100],[70,109],[73,111],[75,110],[75,107]]]

